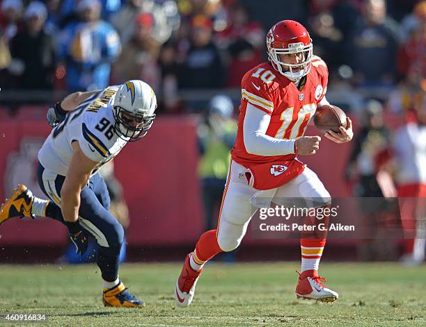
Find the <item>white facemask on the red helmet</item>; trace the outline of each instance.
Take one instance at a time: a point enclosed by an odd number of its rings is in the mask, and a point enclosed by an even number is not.
[[[302,53],[303,61],[298,64],[287,64],[282,62],[279,55],[287,53]],[[273,48],[268,44],[268,55],[272,66],[274,66],[281,75],[287,77],[290,81],[297,82],[310,71],[313,56],[312,41],[307,45],[303,44],[303,42],[290,43],[288,44],[288,48],[284,49]],[[299,71],[295,72],[294,69],[299,69]]]

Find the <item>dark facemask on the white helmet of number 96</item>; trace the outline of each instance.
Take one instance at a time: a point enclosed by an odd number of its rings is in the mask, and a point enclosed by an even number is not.
[[[155,114],[135,114],[120,106],[113,106],[113,116],[117,135],[127,142],[141,140],[148,133],[155,119]],[[136,126],[134,122],[137,122]]]

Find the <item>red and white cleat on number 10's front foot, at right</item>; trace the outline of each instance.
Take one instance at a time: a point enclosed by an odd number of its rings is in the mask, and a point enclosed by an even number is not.
[[[339,294],[326,288],[322,282],[326,279],[317,276],[312,270],[303,271],[299,274],[299,280],[296,287],[297,299],[317,300],[321,302],[332,303],[339,298]]]

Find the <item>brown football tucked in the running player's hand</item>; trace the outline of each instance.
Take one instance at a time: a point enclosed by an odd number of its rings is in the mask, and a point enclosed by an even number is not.
[[[340,133],[339,127],[346,128],[346,121],[345,112],[332,105],[318,107],[314,116],[314,124],[323,134],[329,130]]]

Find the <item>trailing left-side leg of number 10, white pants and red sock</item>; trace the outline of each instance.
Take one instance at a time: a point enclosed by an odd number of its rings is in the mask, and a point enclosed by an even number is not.
[[[189,253],[175,286],[178,305],[186,307],[194,298],[198,277],[207,260],[221,251],[232,251],[239,246],[251,219],[251,196],[255,193],[247,185],[244,171],[236,162],[231,163],[223,192],[219,222],[215,230],[208,230],[200,236],[194,252]]]

